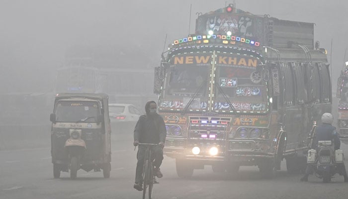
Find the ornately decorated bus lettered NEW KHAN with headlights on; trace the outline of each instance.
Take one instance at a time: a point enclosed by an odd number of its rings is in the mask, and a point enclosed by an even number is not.
[[[199,14],[195,33],[173,41],[155,68],[177,175],[258,166],[270,177],[284,158],[289,172],[304,169],[312,124],[331,111],[328,67],[314,23],[232,4]]]

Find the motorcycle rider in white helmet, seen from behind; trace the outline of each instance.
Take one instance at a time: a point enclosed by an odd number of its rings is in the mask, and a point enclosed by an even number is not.
[[[341,141],[339,138],[339,134],[336,131],[336,127],[332,125],[334,121],[334,117],[331,113],[326,112],[322,115],[322,124],[316,127],[315,129],[315,138],[312,144],[312,149],[316,149],[318,151],[318,142],[319,141],[333,141],[335,144],[335,150],[340,149]],[[344,176],[345,182],[348,182],[346,167],[344,163],[338,164],[338,168],[340,170],[340,174]],[[301,178],[301,181],[308,181],[309,174],[313,173],[312,165],[307,164],[305,175]]]

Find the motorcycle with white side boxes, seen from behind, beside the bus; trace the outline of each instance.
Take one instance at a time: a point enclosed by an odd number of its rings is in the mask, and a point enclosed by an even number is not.
[[[340,163],[344,161],[343,150],[335,150],[332,141],[319,141],[317,150],[308,151],[307,163],[312,166],[315,176],[323,179],[323,183],[330,183],[331,178],[340,173]]]

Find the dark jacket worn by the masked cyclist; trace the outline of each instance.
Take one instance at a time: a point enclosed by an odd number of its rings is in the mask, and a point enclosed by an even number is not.
[[[165,143],[167,130],[161,115],[141,115],[134,129],[134,140],[140,143]]]

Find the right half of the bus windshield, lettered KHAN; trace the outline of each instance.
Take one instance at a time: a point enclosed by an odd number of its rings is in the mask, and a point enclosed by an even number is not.
[[[217,57],[215,84],[220,88],[215,89],[216,111],[235,109],[263,112],[267,109],[266,85],[261,72],[256,70],[258,60],[253,61],[253,59],[255,58]],[[233,107],[230,107],[229,102]]]

